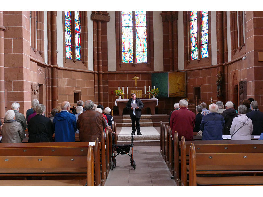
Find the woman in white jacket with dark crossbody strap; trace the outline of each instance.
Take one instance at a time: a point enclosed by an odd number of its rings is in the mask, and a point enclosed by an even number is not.
[[[238,116],[233,119],[230,134],[232,140],[251,140],[253,125],[250,118],[246,116],[246,105],[238,106]]]

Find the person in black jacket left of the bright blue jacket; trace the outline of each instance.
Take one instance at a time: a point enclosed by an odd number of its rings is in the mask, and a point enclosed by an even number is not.
[[[46,106],[39,104],[36,115],[28,123],[28,142],[54,142],[54,128],[51,120],[44,116]]]

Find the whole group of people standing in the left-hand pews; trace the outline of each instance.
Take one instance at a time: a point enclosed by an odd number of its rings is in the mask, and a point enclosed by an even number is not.
[[[63,101],[60,106],[52,109],[49,118],[45,116],[46,106],[37,99],[32,101],[26,117],[19,113],[19,107],[19,103],[14,102],[5,113],[4,123],[0,126],[2,143],[21,143],[26,136],[26,129],[28,142],[75,142],[75,133],[79,133],[81,142],[94,142],[96,137],[101,140],[102,132],[106,135],[105,129],[115,134],[111,128],[114,123],[111,109],[104,109],[91,100],[85,103],[77,101],[77,107],[72,113],[70,103]]]

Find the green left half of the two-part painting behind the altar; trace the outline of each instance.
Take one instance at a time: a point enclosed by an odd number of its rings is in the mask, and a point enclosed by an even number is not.
[[[159,89],[159,95],[155,98],[167,98],[168,97],[168,72],[152,73],[152,87]]]

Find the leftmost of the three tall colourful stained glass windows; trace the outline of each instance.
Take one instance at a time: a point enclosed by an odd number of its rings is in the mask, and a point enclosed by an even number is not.
[[[72,14],[74,18],[72,20]],[[75,45],[73,45],[72,37],[75,37]],[[81,16],[79,11],[65,11],[65,47],[66,58],[73,59],[73,51],[75,50],[75,59],[81,60]]]

